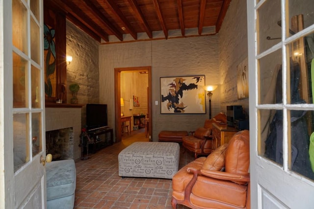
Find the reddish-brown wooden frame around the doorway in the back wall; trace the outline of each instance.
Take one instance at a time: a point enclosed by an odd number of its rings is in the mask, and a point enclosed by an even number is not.
[[[152,136],[152,67],[130,67],[130,68],[115,68],[114,69],[114,104],[115,104],[115,130],[116,130],[116,142],[121,141],[122,139],[122,130],[121,130],[121,72],[122,71],[148,71],[148,114],[149,114],[149,136]],[[131,124],[130,124],[131,129]]]

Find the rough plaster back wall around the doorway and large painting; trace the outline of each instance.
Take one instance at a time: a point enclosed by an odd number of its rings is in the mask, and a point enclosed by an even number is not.
[[[160,114],[160,77],[205,74],[206,84],[219,84],[218,36],[145,41],[100,46],[100,101],[108,104],[114,127],[114,68],[152,66],[153,141],[161,130],[193,131],[207,114]],[[219,89],[219,88],[218,88]],[[158,105],[155,105],[158,101]],[[212,116],[220,111],[219,91],[212,96]]]

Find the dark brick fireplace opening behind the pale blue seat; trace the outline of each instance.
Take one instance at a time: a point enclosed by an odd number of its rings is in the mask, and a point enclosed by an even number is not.
[[[52,160],[73,158],[73,127],[46,132],[46,154],[52,154]]]

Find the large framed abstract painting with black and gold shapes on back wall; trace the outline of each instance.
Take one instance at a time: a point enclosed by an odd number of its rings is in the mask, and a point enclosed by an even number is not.
[[[160,77],[161,114],[206,114],[205,75]]]

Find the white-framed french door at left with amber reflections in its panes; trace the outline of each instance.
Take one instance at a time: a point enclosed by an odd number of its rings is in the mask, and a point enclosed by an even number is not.
[[[46,208],[43,0],[0,3],[0,208]]]

